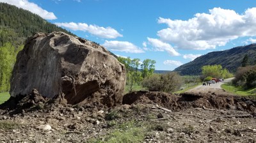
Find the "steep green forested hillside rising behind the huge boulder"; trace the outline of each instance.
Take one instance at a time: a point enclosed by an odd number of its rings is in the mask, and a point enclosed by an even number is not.
[[[33,33],[51,33],[52,31],[72,34],[28,10],[0,3],[0,47],[6,42],[16,46],[21,45]]]

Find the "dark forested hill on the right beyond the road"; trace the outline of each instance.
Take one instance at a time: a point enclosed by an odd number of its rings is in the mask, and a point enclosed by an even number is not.
[[[210,52],[175,68],[174,71],[179,72],[180,75],[200,75],[202,66],[221,64],[223,68],[227,68],[229,72],[234,73],[237,67],[241,66],[246,54],[248,55],[248,64],[256,64],[256,44],[251,44],[230,50]]]

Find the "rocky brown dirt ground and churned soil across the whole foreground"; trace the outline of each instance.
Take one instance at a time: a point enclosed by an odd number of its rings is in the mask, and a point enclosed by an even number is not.
[[[109,109],[97,101],[70,105],[61,95],[49,99],[34,89],[0,106],[0,142],[107,142],[115,132],[134,130],[127,123],[147,128],[141,142],[256,142],[255,102],[225,94],[137,91]]]

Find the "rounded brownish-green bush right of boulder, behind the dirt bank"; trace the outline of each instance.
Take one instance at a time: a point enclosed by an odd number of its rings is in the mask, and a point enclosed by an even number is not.
[[[176,72],[165,73],[161,75],[152,75],[142,82],[143,87],[150,91],[163,91],[171,93],[177,91],[182,84],[182,78]]]

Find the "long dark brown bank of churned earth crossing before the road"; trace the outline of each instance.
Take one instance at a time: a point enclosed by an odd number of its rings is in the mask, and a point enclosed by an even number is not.
[[[163,107],[173,110],[188,108],[205,108],[205,109],[236,109],[256,112],[256,100],[248,97],[230,96],[215,93],[182,93],[180,95],[152,92],[136,91],[125,94],[123,104],[136,103],[157,103]]]

